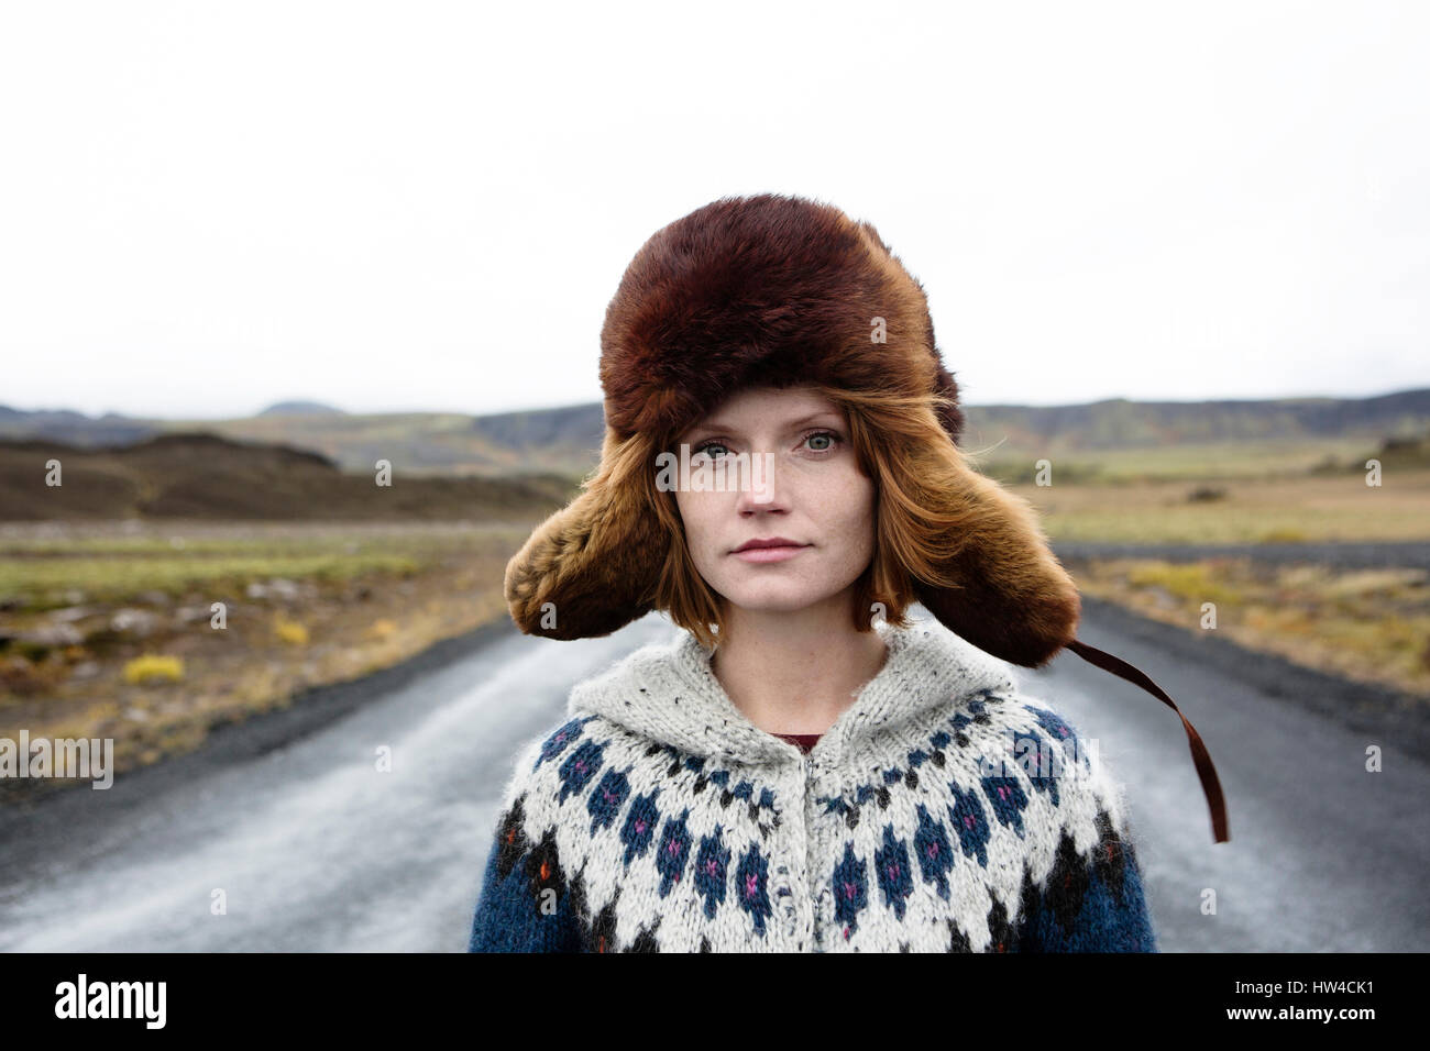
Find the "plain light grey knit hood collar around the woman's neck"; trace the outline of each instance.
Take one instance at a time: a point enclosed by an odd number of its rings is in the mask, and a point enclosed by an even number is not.
[[[879,672],[819,738],[809,759],[839,766],[902,742],[901,731],[932,706],[950,712],[985,691],[1015,688],[1011,666],[937,621],[907,628],[877,622],[888,646]],[[699,756],[778,765],[802,762],[794,744],[749,721],[711,669],[714,649],[692,632],[629,653],[575,686],[568,702],[576,718],[598,714],[659,745]]]

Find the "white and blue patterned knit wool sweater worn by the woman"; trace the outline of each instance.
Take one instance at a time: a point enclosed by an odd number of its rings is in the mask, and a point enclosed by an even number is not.
[[[502,794],[468,949],[1155,952],[1121,788],[937,621],[808,755],[695,635],[576,685]]]

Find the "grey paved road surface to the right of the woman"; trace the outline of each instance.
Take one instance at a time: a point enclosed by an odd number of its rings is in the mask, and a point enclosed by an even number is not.
[[[1074,653],[1025,673],[1030,691],[1098,738],[1127,786],[1164,951],[1430,949],[1430,766],[1426,751],[1406,748],[1397,732],[1404,709],[1383,708],[1377,691],[1347,689],[1230,643],[1103,603],[1087,609],[1078,638],[1137,665],[1177,701],[1227,796],[1231,841],[1214,845],[1170,708]],[[1343,705],[1337,718],[1326,714],[1331,701]],[[1361,702],[1366,711],[1353,711]],[[1383,772],[1366,771],[1371,745]],[[1208,889],[1216,915],[1201,911]]]

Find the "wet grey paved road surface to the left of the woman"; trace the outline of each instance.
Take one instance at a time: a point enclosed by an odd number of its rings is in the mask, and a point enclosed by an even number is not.
[[[465,949],[516,745],[561,718],[571,682],[668,631],[512,629],[266,755],[41,801],[0,825],[0,949]]]

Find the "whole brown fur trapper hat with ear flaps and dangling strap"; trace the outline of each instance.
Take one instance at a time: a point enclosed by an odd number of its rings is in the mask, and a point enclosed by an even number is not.
[[[506,566],[512,618],[528,633],[578,639],[651,612],[671,536],[635,472],[654,472],[638,439],[679,433],[746,386],[821,383],[859,392],[940,395],[935,422],[901,443],[901,478],[972,526],[941,566],[957,588],[917,583],[950,631],[997,658],[1038,668],[1068,648],[1177,711],[1138,669],[1078,642],[1077,586],[1032,506],[962,465],[914,458],[958,443],[958,385],[934,342],[922,286],[878,232],[801,197],[722,197],[658,230],[635,255],[601,332],[605,439],[601,466]],[[930,478],[930,472],[934,476]],[[556,611],[556,622],[545,616]],[[1228,839],[1221,786],[1181,716],[1213,812]]]

